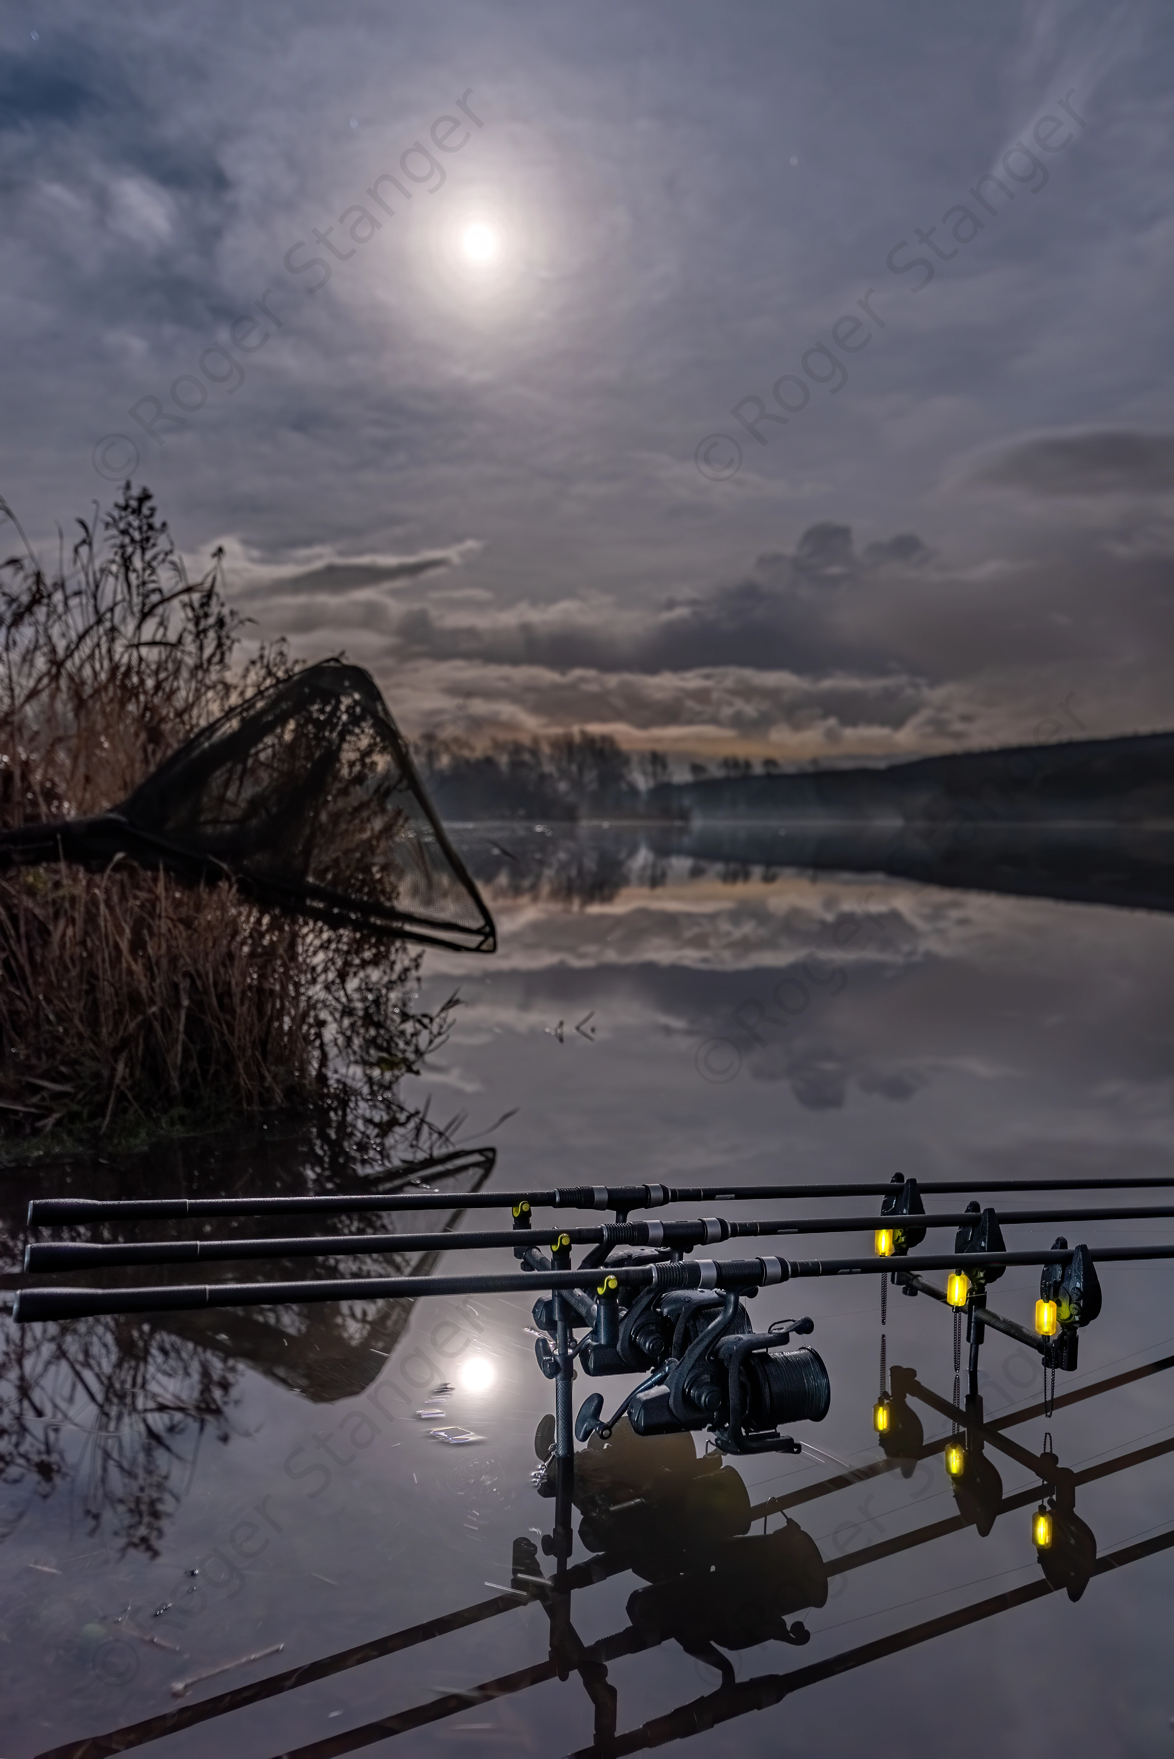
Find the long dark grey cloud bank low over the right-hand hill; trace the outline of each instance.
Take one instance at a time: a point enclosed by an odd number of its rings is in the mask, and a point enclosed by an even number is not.
[[[422,660],[645,677],[791,674],[819,681],[828,704],[844,682],[852,693],[863,688],[873,709],[888,704],[879,725],[900,725],[926,686],[951,679],[996,681],[1074,661],[1104,670],[1130,663],[1139,642],[1162,651],[1174,640],[1174,556],[1160,533],[1151,536],[1144,554],[1104,533],[1046,561],[967,570],[933,558],[912,533],[858,554],[847,526],[819,524],[793,554],[761,556],[745,579],[659,609],[566,602],[448,614],[420,605],[392,628],[397,649]],[[1104,602],[1109,570],[1112,614]],[[782,700],[779,707],[786,712]],[[814,712],[810,702],[803,709]]]

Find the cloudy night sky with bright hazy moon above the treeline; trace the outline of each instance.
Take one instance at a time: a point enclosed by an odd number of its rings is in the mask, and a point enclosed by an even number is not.
[[[1172,25],[12,0],[0,493],[413,732],[1169,726]]]

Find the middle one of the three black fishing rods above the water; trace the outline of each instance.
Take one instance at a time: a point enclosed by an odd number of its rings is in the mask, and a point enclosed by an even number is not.
[[[1174,1217],[1174,1205],[1148,1208],[1063,1208],[1063,1210],[986,1210],[1002,1226],[1021,1226],[1028,1223],[1074,1223],[1074,1221],[1167,1221]],[[522,1219],[522,1217],[520,1217]],[[968,1228],[975,1212],[956,1215],[916,1214],[895,1217],[903,1223],[903,1231],[924,1237],[926,1228]],[[585,1228],[525,1228],[469,1231],[469,1233],[359,1233],[359,1235],[281,1235],[264,1240],[128,1240],[112,1244],[93,1244],[88,1240],[47,1240],[25,1247],[25,1270],[83,1270],[98,1265],[193,1265],[227,1263],[232,1259],[267,1259],[267,1258],[351,1258],[381,1256],[401,1252],[446,1252],[446,1251],[482,1251],[496,1247],[513,1247],[517,1252],[525,1247],[557,1245],[561,1240],[571,1245],[591,1245],[598,1251],[624,1245],[668,1247],[689,1252],[698,1245],[715,1245],[724,1240],[770,1238],[775,1235],[801,1233],[884,1233],[886,1214],[882,1215],[814,1215],[791,1221],[724,1221],[722,1217],[699,1217],[696,1221],[638,1221],[638,1223],[601,1223]],[[893,1230],[889,1230],[893,1231]],[[903,1244],[903,1242],[900,1242]],[[909,1244],[919,1244],[909,1240]],[[886,1254],[888,1256],[888,1254]],[[603,1258],[596,1258],[603,1265]],[[917,1259],[921,1263],[921,1259]],[[592,1266],[583,1266],[592,1268]]]

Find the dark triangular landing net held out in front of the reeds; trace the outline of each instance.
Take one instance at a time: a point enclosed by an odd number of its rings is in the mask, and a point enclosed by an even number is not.
[[[369,672],[327,660],[230,709],[121,806],[2,839],[11,858],[130,855],[339,929],[492,953],[494,920]]]

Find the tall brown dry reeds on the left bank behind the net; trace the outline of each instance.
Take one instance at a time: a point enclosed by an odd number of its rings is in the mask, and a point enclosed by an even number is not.
[[[0,827],[118,804],[294,670],[281,644],[237,663],[220,552],[190,580],[148,489],[79,526],[54,570],[28,549],[0,566]],[[448,1004],[411,1010],[417,974],[418,955],[227,885],[125,860],[0,871],[0,1138],[128,1142],[271,1112],[304,1112],[346,1154],[436,1136],[399,1098],[448,1029]]]

